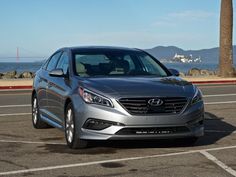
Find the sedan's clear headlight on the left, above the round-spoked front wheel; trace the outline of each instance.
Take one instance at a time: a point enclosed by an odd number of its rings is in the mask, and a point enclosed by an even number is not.
[[[85,88],[80,87],[79,94],[86,103],[113,107],[111,100],[105,98],[104,96],[98,95],[97,93],[89,91]]]

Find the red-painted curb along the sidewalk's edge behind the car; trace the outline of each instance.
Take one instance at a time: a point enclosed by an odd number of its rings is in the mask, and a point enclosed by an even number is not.
[[[236,84],[236,80],[218,80],[218,81],[188,81],[192,84]],[[31,90],[31,85],[26,86],[0,86],[0,90]]]

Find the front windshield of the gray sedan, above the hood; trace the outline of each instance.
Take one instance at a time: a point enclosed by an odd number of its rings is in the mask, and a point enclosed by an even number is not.
[[[75,72],[81,77],[168,76],[164,67],[141,51],[75,52],[73,56]]]

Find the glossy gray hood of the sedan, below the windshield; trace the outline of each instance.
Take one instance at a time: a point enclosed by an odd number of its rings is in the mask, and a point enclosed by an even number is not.
[[[80,78],[79,85],[103,96],[192,97],[195,86],[179,77]]]

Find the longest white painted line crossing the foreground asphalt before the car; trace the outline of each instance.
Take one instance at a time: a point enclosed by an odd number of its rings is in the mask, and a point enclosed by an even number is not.
[[[39,171],[47,171],[47,170],[56,170],[56,169],[64,169],[64,168],[72,168],[72,167],[91,166],[91,165],[98,165],[98,164],[102,164],[102,163],[122,162],[122,161],[131,161],[131,160],[142,160],[142,159],[151,159],[151,158],[157,158],[157,157],[170,157],[170,156],[192,154],[192,153],[199,153],[199,152],[201,153],[202,151],[214,151],[214,150],[233,149],[233,148],[236,148],[236,146],[226,146],[226,147],[219,147],[219,148],[190,150],[190,151],[168,153],[168,154],[128,157],[128,158],[121,158],[121,159],[110,159],[110,160],[75,163],[75,164],[67,164],[67,165],[56,165],[56,166],[49,166],[49,167],[31,168],[31,169],[25,169],[25,170],[6,171],[6,172],[0,172],[0,176],[30,173],[30,172],[39,172]]]

